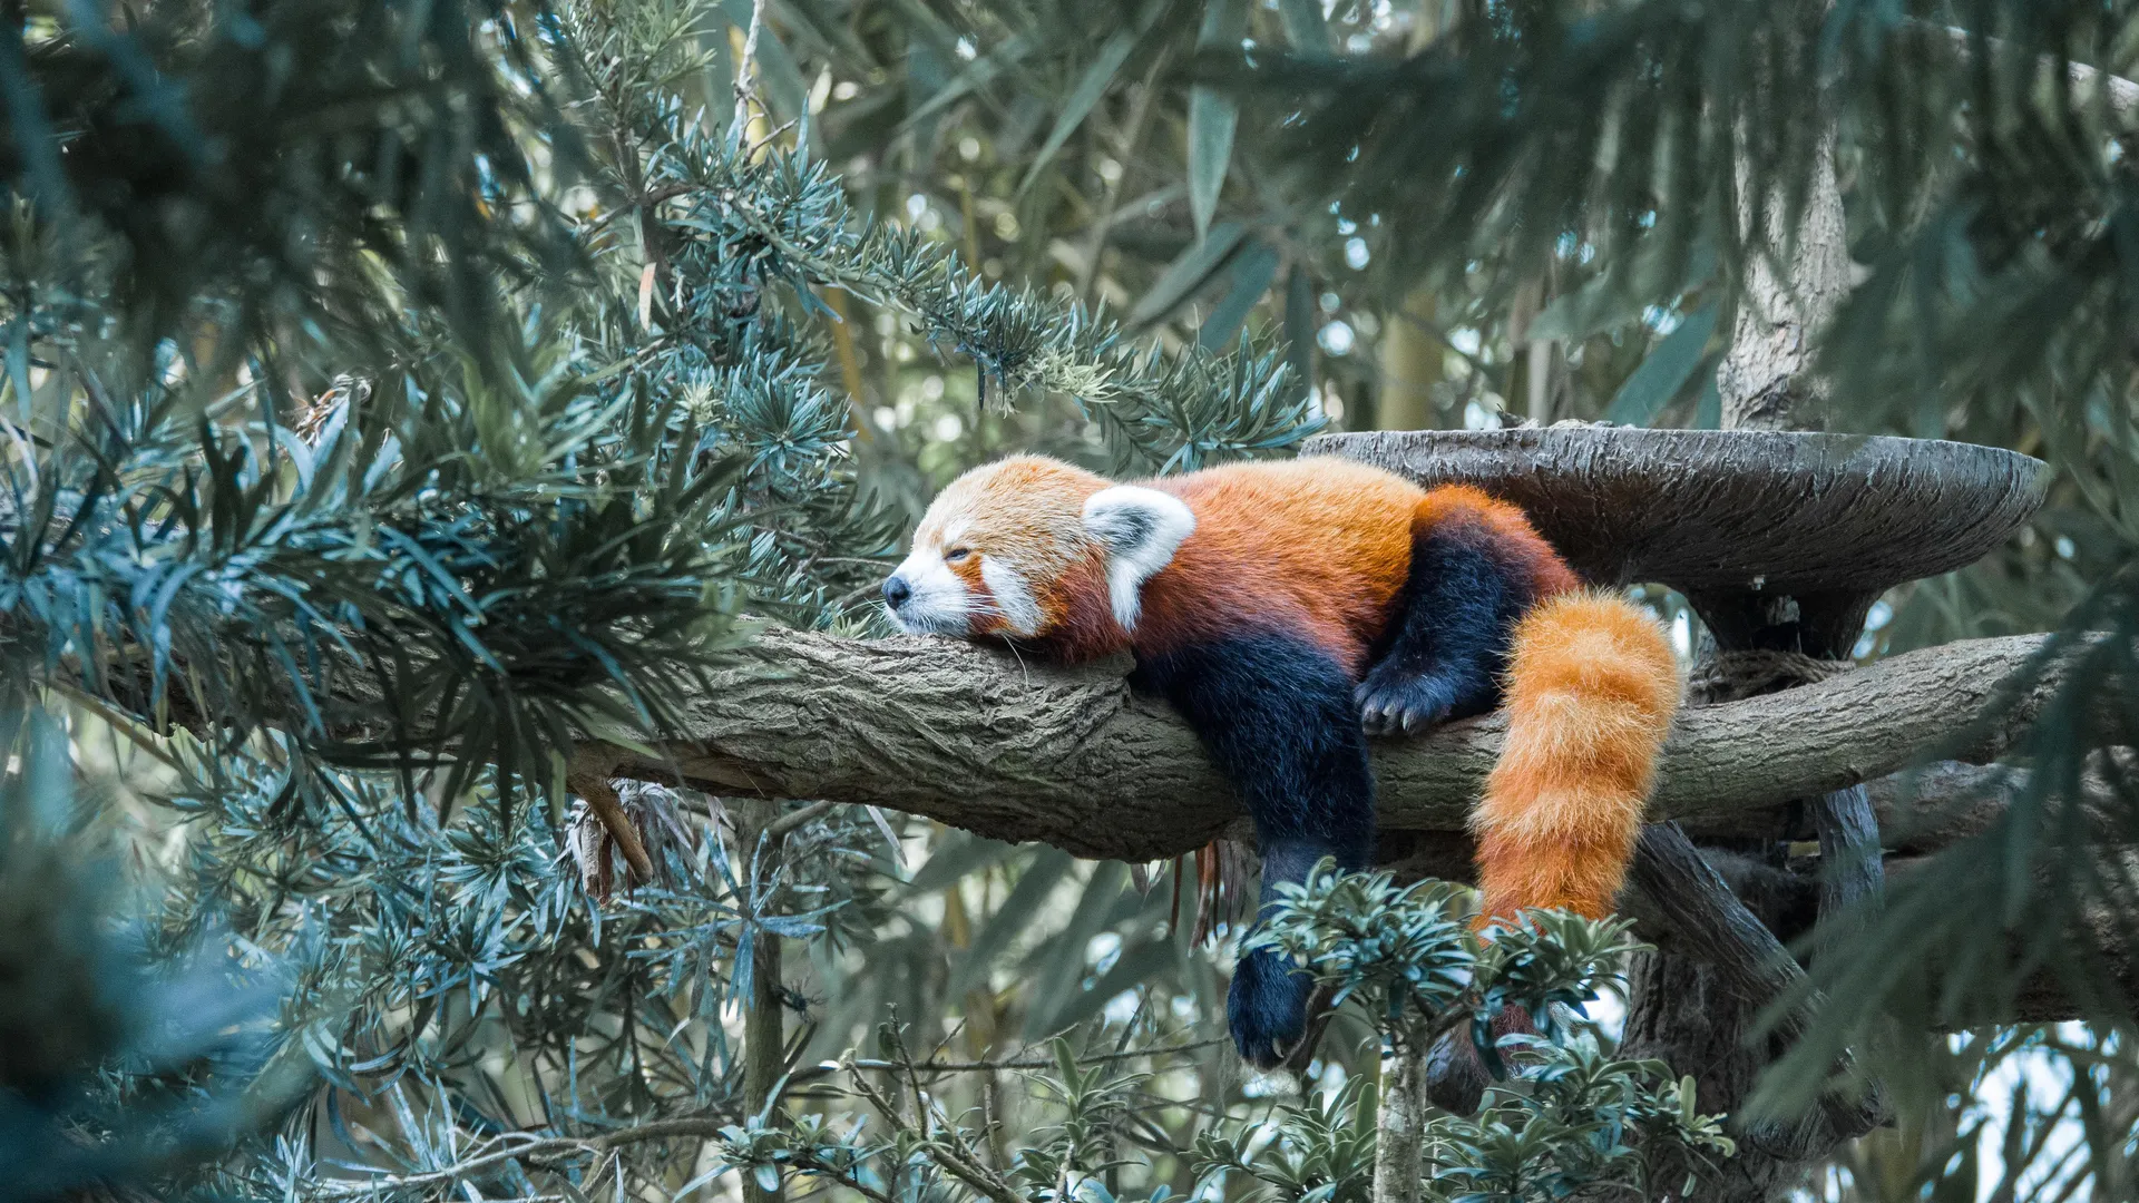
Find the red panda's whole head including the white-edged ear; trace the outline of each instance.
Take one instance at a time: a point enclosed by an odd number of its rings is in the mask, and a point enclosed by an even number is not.
[[[913,554],[883,582],[883,602],[907,634],[1052,638],[1102,651],[1136,627],[1142,582],[1194,529],[1172,494],[1012,456],[937,494],[913,531]]]

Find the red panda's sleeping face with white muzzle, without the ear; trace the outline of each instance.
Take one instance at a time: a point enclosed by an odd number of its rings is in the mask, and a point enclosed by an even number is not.
[[[913,554],[883,582],[907,634],[1042,638],[1063,591],[1097,554],[1084,499],[1106,479],[1042,456],[1012,456],[954,479],[913,531]]]

